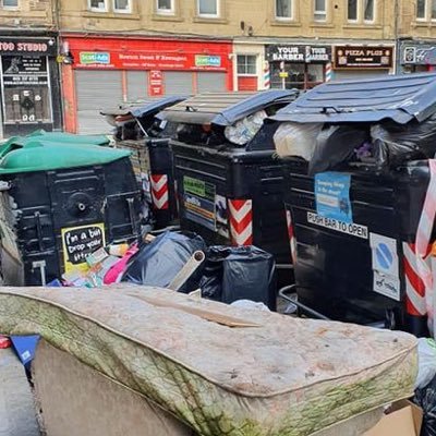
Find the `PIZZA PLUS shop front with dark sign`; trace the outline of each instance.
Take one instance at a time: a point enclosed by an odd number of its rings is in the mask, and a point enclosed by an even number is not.
[[[335,80],[368,78],[393,72],[393,46],[335,46]]]

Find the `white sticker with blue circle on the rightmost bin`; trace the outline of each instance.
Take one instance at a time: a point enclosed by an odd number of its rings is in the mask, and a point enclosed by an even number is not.
[[[383,234],[370,233],[374,292],[400,301],[399,258],[397,241]]]

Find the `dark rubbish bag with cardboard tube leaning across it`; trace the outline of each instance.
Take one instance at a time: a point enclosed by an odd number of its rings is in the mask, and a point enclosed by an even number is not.
[[[143,245],[131,257],[121,281],[166,288],[196,251],[206,251],[204,240],[195,233],[165,232]],[[201,269],[183,284],[180,292],[198,288]]]

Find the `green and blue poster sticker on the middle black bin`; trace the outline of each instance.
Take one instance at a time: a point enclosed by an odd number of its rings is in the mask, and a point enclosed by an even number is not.
[[[216,231],[215,185],[203,180],[183,177],[185,217]]]

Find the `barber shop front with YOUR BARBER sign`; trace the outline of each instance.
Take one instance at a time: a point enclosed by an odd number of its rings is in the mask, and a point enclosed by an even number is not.
[[[326,82],[331,47],[317,45],[267,45],[271,88],[310,89]]]

